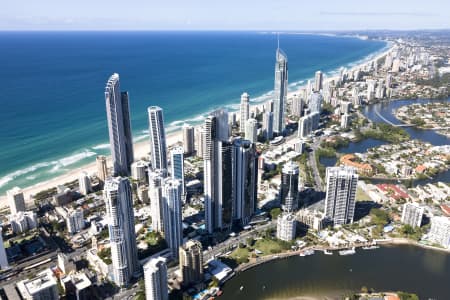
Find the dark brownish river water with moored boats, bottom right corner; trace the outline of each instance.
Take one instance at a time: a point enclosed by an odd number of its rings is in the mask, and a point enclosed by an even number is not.
[[[357,249],[352,256],[316,252],[237,274],[223,287],[221,299],[341,299],[363,286],[413,292],[420,299],[449,299],[448,278],[450,255],[414,246]]]

